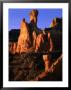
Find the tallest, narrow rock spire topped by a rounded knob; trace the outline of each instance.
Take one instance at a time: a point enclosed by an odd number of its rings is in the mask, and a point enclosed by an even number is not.
[[[31,40],[33,40],[33,46],[35,47],[36,45],[36,37],[38,35],[38,28],[37,28],[37,18],[38,18],[38,11],[36,9],[33,9],[30,13],[30,23],[29,23],[29,28],[30,28],[30,35]]]

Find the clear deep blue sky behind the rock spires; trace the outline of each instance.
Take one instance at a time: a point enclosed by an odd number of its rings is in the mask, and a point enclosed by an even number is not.
[[[20,22],[23,18],[30,22],[29,12],[32,9],[9,9],[9,30],[19,29]],[[44,29],[49,27],[52,20],[56,17],[62,17],[62,9],[37,9],[38,15],[38,28]]]

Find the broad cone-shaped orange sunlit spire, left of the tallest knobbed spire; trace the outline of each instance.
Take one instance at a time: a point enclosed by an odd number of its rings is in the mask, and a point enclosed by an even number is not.
[[[28,48],[30,48],[30,36],[29,36],[29,28],[25,19],[21,22],[20,27],[20,35],[18,37],[17,51],[16,52],[26,52]]]

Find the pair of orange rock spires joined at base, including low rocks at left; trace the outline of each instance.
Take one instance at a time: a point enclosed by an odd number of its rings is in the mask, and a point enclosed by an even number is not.
[[[9,50],[11,53],[15,54],[28,52],[33,49],[32,47],[35,48],[35,42],[38,33],[37,16],[38,11],[34,9],[30,12],[30,23],[27,23],[25,19],[21,21],[17,45],[14,44],[15,42],[11,43]]]

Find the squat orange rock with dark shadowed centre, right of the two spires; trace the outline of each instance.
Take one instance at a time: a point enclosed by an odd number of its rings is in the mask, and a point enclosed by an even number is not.
[[[35,51],[52,51],[53,50],[53,42],[51,39],[50,32],[45,33],[43,31],[42,34],[39,34],[36,38],[36,48]]]

